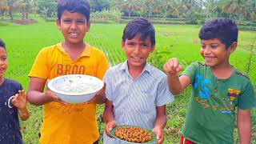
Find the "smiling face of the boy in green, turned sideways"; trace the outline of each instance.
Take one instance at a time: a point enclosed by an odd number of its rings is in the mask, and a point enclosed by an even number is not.
[[[202,40],[200,54],[205,59],[206,66],[218,67],[230,65],[230,54],[235,50],[237,43],[233,42],[230,47],[226,48],[219,39]]]

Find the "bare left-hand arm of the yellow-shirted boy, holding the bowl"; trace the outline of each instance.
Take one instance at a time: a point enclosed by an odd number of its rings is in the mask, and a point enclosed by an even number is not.
[[[27,94],[27,100],[35,106],[42,106],[48,102],[62,102],[51,90],[43,92],[46,79],[30,78],[30,86]]]

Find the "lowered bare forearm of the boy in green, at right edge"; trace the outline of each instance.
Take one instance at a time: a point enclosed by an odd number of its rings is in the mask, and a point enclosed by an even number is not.
[[[250,144],[251,119],[250,110],[238,109],[238,134],[240,144]]]

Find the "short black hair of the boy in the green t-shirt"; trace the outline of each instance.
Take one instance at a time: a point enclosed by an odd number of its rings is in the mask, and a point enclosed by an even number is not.
[[[217,18],[202,26],[199,38],[201,40],[218,38],[228,48],[233,42],[238,42],[238,26],[230,19]]]

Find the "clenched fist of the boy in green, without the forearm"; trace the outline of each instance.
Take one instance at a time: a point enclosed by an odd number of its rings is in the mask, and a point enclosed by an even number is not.
[[[163,70],[165,70],[167,74],[178,74],[182,70],[182,66],[179,64],[177,58],[170,58],[163,66]]]

